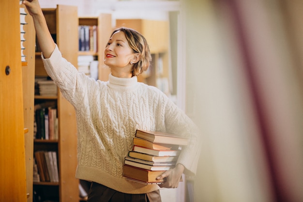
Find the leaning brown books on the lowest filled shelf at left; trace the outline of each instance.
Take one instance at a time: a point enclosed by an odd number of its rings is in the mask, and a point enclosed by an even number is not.
[[[59,182],[57,153],[36,151],[34,155],[38,171],[38,174],[34,172],[34,182]]]

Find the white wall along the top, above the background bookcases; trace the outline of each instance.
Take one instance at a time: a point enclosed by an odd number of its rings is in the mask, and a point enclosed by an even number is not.
[[[78,6],[78,16],[97,16],[110,13],[115,19],[143,18],[167,20],[167,11],[179,10],[179,1],[137,0],[39,0],[42,8],[55,8],[57,4]]]

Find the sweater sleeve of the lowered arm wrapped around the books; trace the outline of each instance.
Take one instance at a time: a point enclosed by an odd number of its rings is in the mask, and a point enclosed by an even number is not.
[[[182,146],[177,163],[182,164],[184,174],[195,175],[201,151],[200,132],[196,124],[172,101],[168,101],[165,112],[167,132],[189,138],[189,144]]]

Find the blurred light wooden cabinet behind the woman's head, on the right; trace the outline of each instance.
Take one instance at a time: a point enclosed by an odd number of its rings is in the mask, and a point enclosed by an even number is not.
[[[149,71],[138,77],[138,80],[156,86],[169,94],[169,22],[147,19],[117,19],[117,27],[128,27],[140,32],[147,40],[152,53],[152,64]]]

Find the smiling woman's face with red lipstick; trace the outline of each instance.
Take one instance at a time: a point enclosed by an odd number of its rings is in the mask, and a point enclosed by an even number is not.
[[[130,62],[134,58],[134,51],[127,42],[124,32],[117,31],[109,39],[106,49],[104,63],[113,68],[129,67]]]

